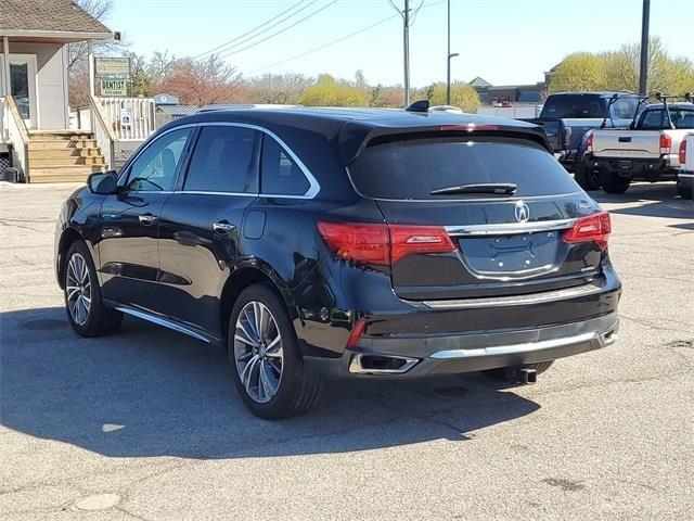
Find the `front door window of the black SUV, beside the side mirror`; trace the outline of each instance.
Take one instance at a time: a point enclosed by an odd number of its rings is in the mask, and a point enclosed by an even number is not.
[[[174,190],[190,136],[190,128],[171,130],[144,149],[130,166],[128,188],[134,192]]]

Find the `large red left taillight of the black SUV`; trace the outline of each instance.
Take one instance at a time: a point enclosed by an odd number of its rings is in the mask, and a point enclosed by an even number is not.
[[[413,253],[457,250],[438,226],[319,223],[318,231],[338,258],[358,264],[388,266]]]

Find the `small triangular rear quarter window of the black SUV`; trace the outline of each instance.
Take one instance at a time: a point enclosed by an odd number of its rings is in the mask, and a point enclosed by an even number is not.
[[[260,192],[268,195],[304,195],[308,179],[290,154],[270,136],[262,138]]]

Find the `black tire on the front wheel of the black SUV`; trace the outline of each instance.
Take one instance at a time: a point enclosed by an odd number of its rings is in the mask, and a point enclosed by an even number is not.
[[[76,290],[74,285],[75,279],[70,271],[70,263],[73,259],[77,263],[78,258],[85,262],[85,274],[88,279],[83,280],[86,280],[88,284],[86,282],[79,283],[79,290]],[[94,263],[87,244],[82,241],[75,241],[67,250],[63,281],[65,287],[63,295],[65,298],[67,321],[77,334],[80,336],[102,336],[118,330],[123,322],[123,314],[104,305]],[[72,310],[75,308],[75,301],[70,300],[70,295],[75,293],[88,296],[90,301],[89,308],[87,309],[83,306],[79,307],[80,315],[76,316],[74,316],[74,312]],[[77,298],[79,298],[79,296],[77,296]]]

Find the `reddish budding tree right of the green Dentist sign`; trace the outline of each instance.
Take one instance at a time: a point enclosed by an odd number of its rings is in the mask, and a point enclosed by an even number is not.
[[[242,78],[235,67],[215,55],[200,61],[187,58],[175,62],[158,87],[185,104],[236,103],[242,92]]]

